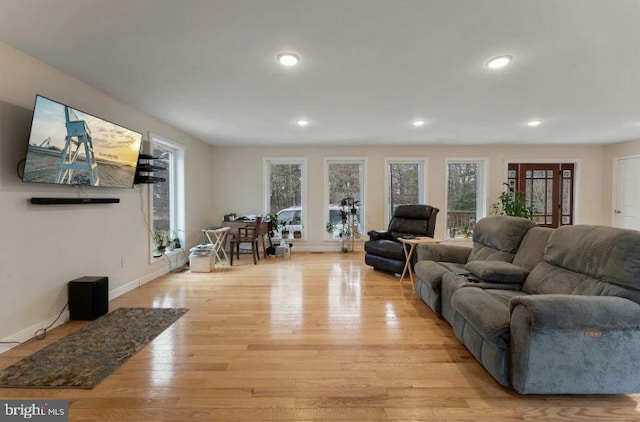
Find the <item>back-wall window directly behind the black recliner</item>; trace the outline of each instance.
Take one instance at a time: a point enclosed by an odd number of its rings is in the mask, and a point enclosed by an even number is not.
[[[426,160],[386,160],[386,219],[391,220],[396,207],[401,204],[424,204],[424,163]]]

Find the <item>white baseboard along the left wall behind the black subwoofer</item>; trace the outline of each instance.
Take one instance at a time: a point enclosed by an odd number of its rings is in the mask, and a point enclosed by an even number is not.
[[[137,289],[138,287],[147,284],[148,282],[155,280],[156,278],[163,276],[165,274],[167,274],[168,272],[174,270],[175,268],[179,268],[181,266],[183,266],[184,264],[187,263],[187,259],[184,257],[181,258],[177,258],[176,262],[171,262],[171,266],[173,268],[170,268],[169,265],[164,265],[162,268],[147,274],[143,277],[140,277],[136,280],[130,281],[129,283],[125,284],[124,286],[120,286],[117,289],[113,289],[109,292],[109,301],[112,301],[113,299],[122,296],[125,293],[130,292],[131,290]],[[175,265],[174,265],[175,264]],[[47,318],[45,320],[42,320],[40,322],[37,322],[35,324],[33,324],[30,327],[25,328],[24,330],[21,330],[17,333],[11,334],[8,337],[5,337],[3,339],[0,339],[0,341],[19,341],[19,342],[25,342],[29,339],[31,339],[35,332],[44,328],[44,327],[48,327],[49,324],[51,324],[57,317],[58,315],[52,316],[50,318]],[[51,328],[49,328],[50,330],[52,330],[53,328],[64,324],[65,322],[69,321],[69,311],[65,310],[62,315],[60,315],[60,319],[58,319],[58,321],[56,321],[56,323],[51,326]],[[13,349],[14,347],[18,346],[18,344],[0,344],[0,354]]]

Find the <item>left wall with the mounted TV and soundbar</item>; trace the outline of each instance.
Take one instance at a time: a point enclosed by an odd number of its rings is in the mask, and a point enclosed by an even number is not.
[[[36,93],[142,132],[144,139],[153,132],[182,144],[188,244],[200,242],[200,229],[211,221],[212,147],[2,43],[0,69],[0,339],[7,340],[55,317],[69,280],[104,275],[110,291],[122,291],[169,268],[165,260],[150,264],[147,186],[84,188],[120,204],[29,204],[34,196],[78,195],[77,188],[23,183],[17,176]]]

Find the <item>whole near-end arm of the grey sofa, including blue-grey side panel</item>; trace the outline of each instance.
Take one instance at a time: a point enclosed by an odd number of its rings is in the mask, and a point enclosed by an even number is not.
[[[640,305],[621,297],[509,301],[510,378],[522,394],[640,391]]]

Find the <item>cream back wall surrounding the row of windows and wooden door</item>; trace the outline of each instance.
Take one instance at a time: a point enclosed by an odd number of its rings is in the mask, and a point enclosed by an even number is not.
[[[325,204],[323,166],[325,157],[367,157],[366,229],[383,229],[384,160],[387,157],[427,157],[427,203],[444,211],[445,162],[447,158],[486,158],[488,168],[487,204],[495,202],[506,180],[506,162],[536,162],[554,159],[577,162],[578,224],[608,224],[600,204],[603,199],[603,151],[601,145],[580,146],[287,146],[223,147],[212,149],[211,163],[219,200],[213,204],[212,217],[221,219],[229,212],[263,212],[263,157],[307,157],[307,236],[300,249],[335,249],[323,241]],[[366,236],[365,236],[366,237]],[[439,215],[436,237],[445,237],[444,212]]]

